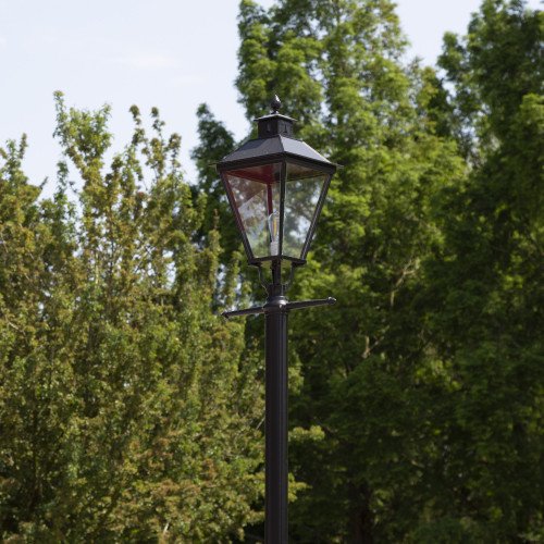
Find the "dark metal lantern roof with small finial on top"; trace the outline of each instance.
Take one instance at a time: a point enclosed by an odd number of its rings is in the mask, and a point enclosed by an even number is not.
[[[271,103],[272,113],[256,120],[258,137],[247,140],[238,149],[223,157],[217,164],[219,169],[231,166],[239,161],[257,162],[282,159],[289,156],[296,159],[312,161],[322,166],[335,168],[336,164],[318,153],[308,144],[294,137],[295,120],[277,113],[280,99],[274,97]]]

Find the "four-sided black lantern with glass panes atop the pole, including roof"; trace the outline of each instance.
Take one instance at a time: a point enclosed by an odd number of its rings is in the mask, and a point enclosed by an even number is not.
[[[304,264],[336,164],[293,137],[293,119],[260,118],[258,138],[218,164],[250,264]]]

